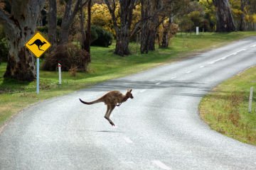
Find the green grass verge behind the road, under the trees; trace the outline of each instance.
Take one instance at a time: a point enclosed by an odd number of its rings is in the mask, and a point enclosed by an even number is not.
[[[132,55],[119,57],[113,55],[114,45],[92,47],[92,63],[89,72],[78,72],[75,77],[63,72],[62,85],[58,85],[58,72],[40,71],[40,94],[36,94],[36,81],[23,82],[4,79],[6,63],[0,64],[0,126],[23,108],[43,101],[46,98],[69,94],[108,79],[124,77],[128,74],[156,67],[159,64],[181,60],[191,53],[200,52],[250,35],[255,32],[204,33],[202,35],[178,34],[171,40],[167,49],[156,49],[147,55],[139,54],[139,46],[130,44]],[[41,61],[42,62],[42,61]]]

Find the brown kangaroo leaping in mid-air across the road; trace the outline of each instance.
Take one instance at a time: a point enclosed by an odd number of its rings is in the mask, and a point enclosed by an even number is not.
[[[110,91],[95,101],[86,102],[86,101],[82,101],[80,98],[79,98],[79,100],[82,103],[87,104],[87,105],[104,102],[105,105],[107,105],[107,112],[105,114],[105,119],[107,119],[109,121],[109,123],[112,126],[114,126],[114,123],[112,122],[112,120],[110,120],[110,114],[112,113],[112,111],[114,110],[114,108],[116,106],[121,106],[121,104],[124,103],[125,101],[127,101],[128,98],[134,98],[132,96],[132,89],[128,89],[127,93],[125,95],[122,94],[120,91]]]

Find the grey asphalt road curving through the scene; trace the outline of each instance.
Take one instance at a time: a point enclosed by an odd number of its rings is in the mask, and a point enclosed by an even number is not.
[[[210,130],[198,115],[203,95],[256,64],[256,37],[165,64],[22,111],[0,134],[0,169],[256,169],[256,147]],[[157,57],[157,56],[156,56]],[[105,120],[92,101],[133,89]]]

